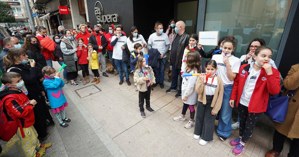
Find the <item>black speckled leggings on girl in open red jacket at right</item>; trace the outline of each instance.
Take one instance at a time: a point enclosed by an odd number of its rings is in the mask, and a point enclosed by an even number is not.
[[[240,116],[239,136],[242,136],[241,141],[246,143],[252,135],[255,123],[260,119],[262,113],[249,113],[248,107],[239,103],[238,112]]]

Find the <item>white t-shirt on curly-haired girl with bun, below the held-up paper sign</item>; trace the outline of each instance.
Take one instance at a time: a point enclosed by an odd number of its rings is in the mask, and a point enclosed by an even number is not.
[[[218,70],[216,71],[216,74],[222,78],[223,85],[232,85],[234,84],[234,80],[230,81],[227,76],[227,69],[231,69],[233,73],[239,73],[239,69],[241,66],[241,61],[238,57],[235,57],[231,55],[231,57],[228,57],[229,63],[231,64],[231,67],[228,67],[226,69],[226,65],[223,62],[223,56],[222,54],[219,55],[213,55],[212,60],[215,60],[217,63]]]

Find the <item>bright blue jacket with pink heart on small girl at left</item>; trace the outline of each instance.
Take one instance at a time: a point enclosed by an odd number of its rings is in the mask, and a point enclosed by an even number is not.
[[[59,108],[66,103],[62,87],[64,82],[60,78],[54,78],[45,76],[45,80],[42,83],[45,87],[45,91],[48,93],[48,99],[50,101],[51,108]]]

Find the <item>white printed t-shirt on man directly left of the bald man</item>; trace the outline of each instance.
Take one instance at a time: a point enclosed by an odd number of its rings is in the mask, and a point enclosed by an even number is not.
[[[166,45],[169,44],[169,38],[165,33],[162,33],[160,36],[158,36],[156,33],[152,33],[149,36],[149,41],[147,44],[152,45],[152,48],[154,49],[158,49],[162,55],[165,52]],[[165,57],[166,55],[164,55],[163,58]]]

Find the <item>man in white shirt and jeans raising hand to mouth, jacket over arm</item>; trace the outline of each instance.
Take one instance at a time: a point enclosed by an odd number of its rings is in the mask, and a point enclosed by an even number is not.
[[[119,85],[123,84],[123,71],[125,71],[126,82],[128,86],[131,86],[131,82],[129,79],[129,70],[126,64],[126,61],[129,62],[130,56],[123,56],[123,50],[126,49],[126,47],[123,45],[127,43],[127,37],[121,33],[122,31],[123,30],[120,26],[117,26],[115,28],[116,35],[112,37],[110,43],[111,46],[114,46],[112,58],[115,59],[115,65],[118,69],[119,78],[120,78]]]

